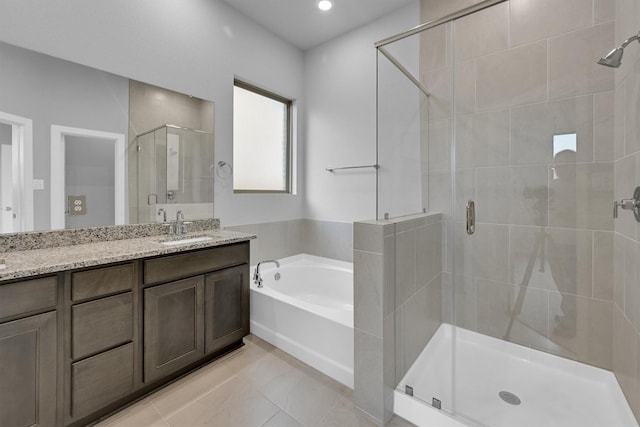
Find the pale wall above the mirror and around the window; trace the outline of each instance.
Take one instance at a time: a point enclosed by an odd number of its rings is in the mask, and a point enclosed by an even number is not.
[[[214,101],[216,161],[231,161],[234,76],[303,105],[302,53],[220,0],[5,1],[0,41]],[[299,158],[302,135],[299,126]],[[302,216],[301,195],[233,195],[230,180],[216,184],[223,225]]]

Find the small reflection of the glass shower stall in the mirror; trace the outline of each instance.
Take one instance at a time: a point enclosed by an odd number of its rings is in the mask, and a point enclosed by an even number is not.
[[[178,210],[186,219],[213,218],[212,133],[164,125],[138,135],[135,144],[130,191],[137,194],[138,223],[171,220]]]

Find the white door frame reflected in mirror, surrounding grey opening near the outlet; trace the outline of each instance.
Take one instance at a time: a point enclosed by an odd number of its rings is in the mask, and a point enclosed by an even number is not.
[[[51,125],[51,229],[57,230],[65,228],[65,137],[67,136],[96,138],[106,143],[114,144],[115,225],[124,224],[126,218],[126,152],[124,134]]]

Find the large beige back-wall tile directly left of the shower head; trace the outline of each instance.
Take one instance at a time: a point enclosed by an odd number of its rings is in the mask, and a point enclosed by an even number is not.
[[[614,74],[594,60],[611,50],[614,30],[608,22],[549,40],[550,99],[614,89]]]

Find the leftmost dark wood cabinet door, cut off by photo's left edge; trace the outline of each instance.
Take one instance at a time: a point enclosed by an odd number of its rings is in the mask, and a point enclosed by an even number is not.
[[[56,314],[0,324],[0,426],[56,423]]]

